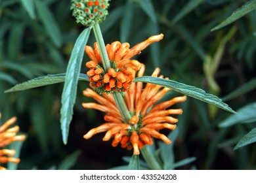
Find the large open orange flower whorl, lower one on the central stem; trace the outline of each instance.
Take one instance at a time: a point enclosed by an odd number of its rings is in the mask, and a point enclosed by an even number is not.
[[[142,65],[138,76],[144,73],[144,65]],[[156,69],[152,76],[158,76],[160,69]],[[161,78],[163,76],[160,76]],[[182,109],[167,109],[175,103],[180,103],[186,100],[186,96],[175,97],[169,101],[164,101],[155,105],[168,92],[169,88],[163,88],[155,84],[146,84],[142,89],[142,82],[132,83],[130,89],[125,92],[125,104],[133,115],[129,124],[125,124],[116,107],[112,95],[103,93],[103,96],[98,95],[93,90],[87,88],[83,95],[92,97],[98,103],[83,103],[85,108],[95,108],[102,112],[106,112],[104,120],[106,123],[91,129],[83,137],[90,139],[96,133],[106,131],[103,141],[108,141],[114,138],[112,146],[121,144],[122,148],[133,148],[133,154],[140,154],[140,148],[145,144],[153,144],[152,137],[161,139],[166,144],[171,143],[165,135],[159,131],[161,129],[175,129],[177,118],[173,118],[171,114],[182,114]]]

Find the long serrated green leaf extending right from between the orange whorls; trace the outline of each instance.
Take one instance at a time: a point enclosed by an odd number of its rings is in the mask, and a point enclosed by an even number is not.
[[[203,91],[202,89],[196,88],[194,86],[182,84],[174,80],[167,80],[164,78],[158,78],[158,77],[152,77],[152,76],[138,77],[138,78],[135,78],[134,82],[147,82],[147,83],[157,84],[166,88],[171,88],[176,92],[193,97],[195,99],[199,99],[200,101],[203,101],[205,103],[215,105],[216,107],[222,108],[223,110],[226,110],[228,112],[236,113],[234,110],[232,110],[232,108],[228,107],[226,103],[223,103],[223,101],[221,101],[221,99],[219,99],[215,95],[205,93],[205,91]]]

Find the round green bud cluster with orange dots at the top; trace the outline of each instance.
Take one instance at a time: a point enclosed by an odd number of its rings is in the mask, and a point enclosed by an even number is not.
[[[73,16],[77,23],[93,25],[105,20],[108,15],[109,0],[72,0]]]

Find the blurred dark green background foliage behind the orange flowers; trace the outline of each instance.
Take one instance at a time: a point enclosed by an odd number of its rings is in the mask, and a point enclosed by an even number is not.
[[[247,1],[110,3],[109,15],[100,24],[106,43],[121,40],[133,46],[163,33],[161,42],[136,58],[146,64],[147,75],[160,67],[164,76],[224,97],[234,110],[241,108],[237,115],[255,119],[251,106],[256,98],[256,12],[252,10],[232,24],[211,31]],[[0,1],[0,111],[3,121],[17,116],[21,131],[28,135],[18,169],[109,169],[129,162],[122,157],[131,157],[132,152],[112,148],[111,142],[102,142],[102,135],[83,139],[89,129],[103,122],[100,112],[81,107],[82,102],[91,100],[82,95],[89,87],[87,82],[80,81],[77,88],[67,145],[60,133],[63,84],[4,93],[14,84],[37,76],[65,73],[75,39],[83,29],[72,17],[69,0]],[[87,44],[93,42],[94,37],[89,37]],[[85,56],[83,61],[88,59]],[[83,63],[81,73],[86,71]],[[165,99],[175,95],[179,93],[170,92]],[[161,143],[152,146],[166,169],[256,169],[255,143],[233,150],[244,135],[255,137],[255,120],[234,122],[238,117],[233,114],[192,98],[181,107],[184,112],[179,116],[176,141],[168,150],[163,150],[167,147]],[[230,118],[234,118],[232,125],[223,127]],[[182,161],[186,162],[178,167]]]

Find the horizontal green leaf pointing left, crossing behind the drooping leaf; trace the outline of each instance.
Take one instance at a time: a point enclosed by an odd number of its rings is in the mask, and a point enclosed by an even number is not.
[[[1,75],[0,75],[0,78],[1,78]],[[49,84],[56,84],[59,82],[64,82],[65,78],[66,78],[65,73],[57,74],[57,75],[41,76],[38,78],[33,78],[32,80],[28,80],[26,82],[17,84],[14,87],[10,88],[9,90],[6,90],[5,93],[18,92],[18,91],[22,91],[22,90],[37,88],[40,86],[46,86]],[[85,74],[79,74],[79,80],[89,81],[89,77]]]

